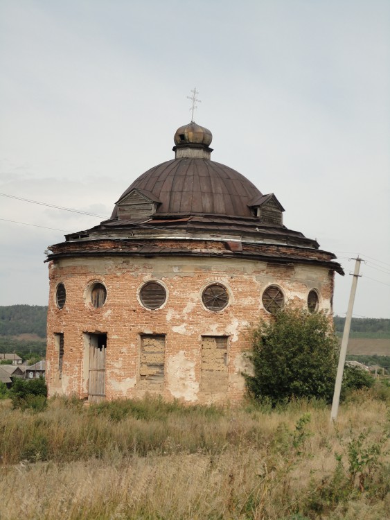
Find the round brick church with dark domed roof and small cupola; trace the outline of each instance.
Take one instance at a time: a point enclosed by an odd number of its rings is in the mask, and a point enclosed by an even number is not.
[[[251,327],[287,302],[332,312],[335,255],[283,225],[274,193],[211,160],[193,121],[112,217],[52,245],[49,395],[238,401]]]

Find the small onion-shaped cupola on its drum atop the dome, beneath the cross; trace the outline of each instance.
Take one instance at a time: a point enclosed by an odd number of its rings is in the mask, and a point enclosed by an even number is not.
[[[212,148],[209,148],[213,140],[213,134],[204,126],[191,121],[188,125],[181,126],[175,132],[175,159],[190,157],[192,159],[210,159]]]

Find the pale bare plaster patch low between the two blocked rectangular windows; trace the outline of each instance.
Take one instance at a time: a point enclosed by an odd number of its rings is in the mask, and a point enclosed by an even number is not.
[[[195,379],[195,361],[187,359],[184,350],[168,358],[166,376],[168,390],[173,397],[197,401],[199,383]]]

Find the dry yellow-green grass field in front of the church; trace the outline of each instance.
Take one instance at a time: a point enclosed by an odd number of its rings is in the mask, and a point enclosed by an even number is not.
[[[369,519],[389,500],[389,392],[278,410],[0,402],[0,518]]]

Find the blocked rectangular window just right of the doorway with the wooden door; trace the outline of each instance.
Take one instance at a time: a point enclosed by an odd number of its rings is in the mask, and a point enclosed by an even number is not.
[[[141,336],[141,359],[139,375],[141,381],[152,385],[163,383],[165,361],[165,336],[143,334]]]

